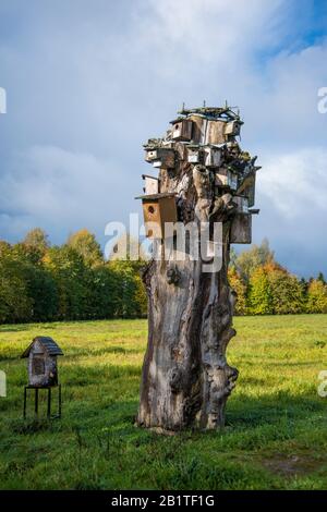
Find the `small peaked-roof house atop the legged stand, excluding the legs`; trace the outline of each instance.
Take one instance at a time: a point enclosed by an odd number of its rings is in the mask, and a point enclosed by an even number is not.
[[[57,386],[57,356],[63,355],[52,338],[38,336],[22,354],[27,357],[28,385],[33,387]]]

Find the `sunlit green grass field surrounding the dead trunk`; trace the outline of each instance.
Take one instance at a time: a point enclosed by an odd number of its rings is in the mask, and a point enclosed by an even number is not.
[[[240,378],[225,430],[175,436],[134,426],[146,320],[0,326],[0,488],[326,489],[327,398],[317,386],[327,315],[234,324],[228,358]],[[22,419],[20,355],[37,334],[64,351],[61,420],[36,422],[32,409]]]

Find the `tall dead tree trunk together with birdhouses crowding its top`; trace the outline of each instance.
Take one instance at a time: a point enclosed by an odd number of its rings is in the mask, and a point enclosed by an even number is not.
[[[182,119],[193,124],[189,142],[173,139],[173,125],[166,138],[149,141],[146,146],[147,156],[152,151],[154,157],[160,158],[160,194],[156,200],[167,193],[175,193],[178,220],[184,224],[194,222],[199,229],[204,222],[208,222],[213,242],[214,223],[222,223],[219,270],[204,271],[207,261],[203,257],[192,258],[190,239],[186,241],[184,258],[165,259],[162,228],[159,230],[160,236],[156,237],[161,258],[153,259],[144,272],[148,294],[148,344],[142,373],[137,423],[164,430],[223,426],[226,402],[238,378],[238,370],[229,366],[226,358],[227,345],[235,336],[232,327],[235,293],[228,282],[229,253],[231,242],[251,237],[251,212],[240,211],[240,208],[243,208],[242,198],[249,202],[257,168],[254,168],[255,159],[251,160],[249,154],[241,151],[234,134],[221,134],[221,127],[226,131],[228,123],[235,121],[232,111],[228,110],[230,118],[221,121],[222,109],[216,109],[214,113],[214,109],[210,112],[208,109],[195,110],[201,110],[198,117],[194,111],[182,112]],[[205,121],[217,124],[214,127],[218,135],[214,133],[211,138],[208,134],[196,135],[196,127],[203,127]],[[221,126],[221,123],[225,125]],[[208,127],[206,131],[208,133]],[[160,156],[162,148],[165,150]],[[173,167],[166,168],[165,151],[167,154],[171,148],[175,153],[175,160]],[[219,151],[217,164],[207,166],[206,151],[214,149]],[[197,157],[193,158],[195,162],[192,163],[190,154],[196,150]],[[156,158],[153,161],[157,161]],[[233,169],[237,176],[234,183],[228,181],[230,178],[233,180],[233,176],[229,176],[229,169]],[[249,180],[250,176],[252,180]],[[245,193],[238,195],[242,191]],[[144,208],[148,207],[149,198],[155,200],[154,197],[143,196]],[[157,208],[162,225],[166,214],[159,205]],[[148,221],[144,211],[145,220]],[[196,243],[199,244],[199,241]]]

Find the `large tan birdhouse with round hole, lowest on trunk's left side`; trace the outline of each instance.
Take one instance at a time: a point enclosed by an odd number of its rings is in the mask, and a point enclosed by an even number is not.
[[[142,199],[146,236],[164,239],[165,223],[178,220],[175,194],[144,195],[136,199]]]

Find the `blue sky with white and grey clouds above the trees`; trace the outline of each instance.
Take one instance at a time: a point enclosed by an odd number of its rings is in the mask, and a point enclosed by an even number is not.
[[[87,228],[104,246],[141,212],[147,138],[228,100],[263,166],[253,242],[327,275],[325,0],[0,0],[0,239]]]

